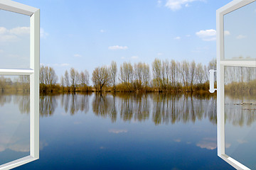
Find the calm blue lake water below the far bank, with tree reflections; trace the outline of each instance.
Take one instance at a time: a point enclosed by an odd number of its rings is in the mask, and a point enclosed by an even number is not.
[[[0,131],[3,164],[29,153],[29,96],[0,101],[1,117],[16,112],[23,127]],[[217,156],[214,96],[64,94],[40,104],[40,159],[17,169],[233,169]]]

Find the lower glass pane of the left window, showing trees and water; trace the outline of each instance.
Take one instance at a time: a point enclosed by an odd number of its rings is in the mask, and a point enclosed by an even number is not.
[[[0,165],[30,155],[29,76],[0,76]]]

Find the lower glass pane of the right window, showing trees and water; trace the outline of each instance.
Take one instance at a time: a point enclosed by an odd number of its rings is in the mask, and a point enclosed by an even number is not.
[[[225,67],[225,154],[256,169],[256,68]]]

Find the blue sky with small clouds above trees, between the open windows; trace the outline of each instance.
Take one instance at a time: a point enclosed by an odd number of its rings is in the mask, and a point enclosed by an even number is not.
[[[208,64],[216,54],[215,11],[231,0],[16,1],[41,9],[41,63],[60,78],[70,67],[91,73],[112,60]]]

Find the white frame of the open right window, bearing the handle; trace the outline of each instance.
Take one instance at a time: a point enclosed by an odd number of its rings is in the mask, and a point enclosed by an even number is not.
[[[219,8],[216,12],[217,26],[217,136],[218,136],[218,156],[235,169],[249,169],[247,166],[236,161],[225,154],[225,110],[224,110],[224,67],[256,67],[255,60],[225,60],[224,57],[224,16],[235,11],[242,6],[246,6],[256,0],[234,0],[229,4]],[[256,30],[255,30],[256,31]]]

